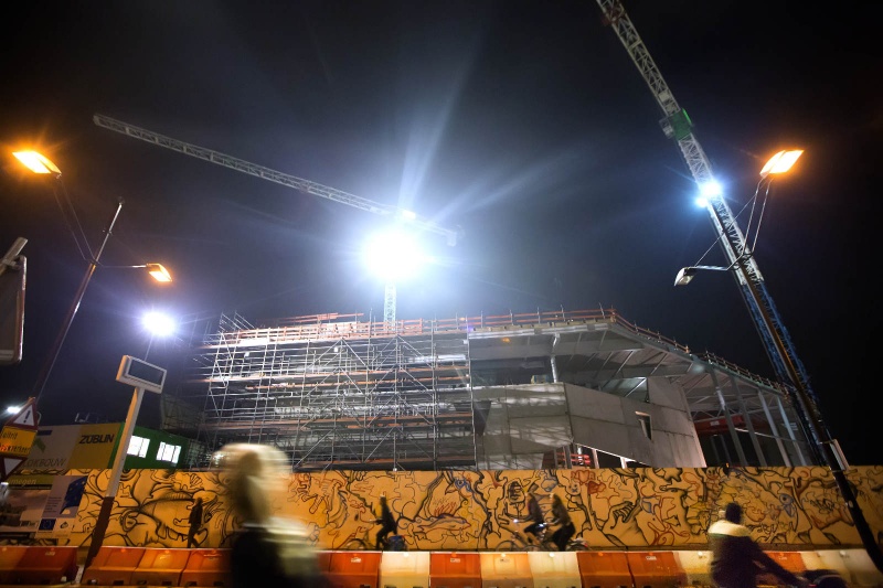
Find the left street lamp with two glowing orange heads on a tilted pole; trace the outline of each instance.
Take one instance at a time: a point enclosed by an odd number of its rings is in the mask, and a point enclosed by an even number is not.
[[[61,182],[62,172],[55,163],[53,163],[49,158],[38,153],[36,151],[17,151],[12,153],[15,158],[21,161],[29,170],[38,174],[52,174],[55,179]],[[56,196],[57,199],[57,196]],[[61,199],[58,200],[58,206],[62,207],[62,213],[64,213],[64,206],[62,205]],[[70,203],[68,203],[70,204]],[[71,205],[73,209],[73,205]],[[83,301],[83,296],[86,293],[86,288],[88,288],[89,281],[92,280],[93,274],[95,274],[95,269],[98,267],[98,263],[102,259],[102,254],[104,253],[104,248],[107,245],[110,235],[114,232],[114,225],[119,217],[119,213],[123,210],[123,201],[120,200],[117,203],[117,209],[114,212],[114,216],[110,218],[110,223],[107,225],[107,229],[105,229],[104,239],[102,240],[100,247],[94,254],[92,249],[88,247],[88,242],[85,240],[87,245],[87,250],[89,253],[91,259],[89,265],[86,268],[86,274],[83,276],[83,279],[79,282],[79,287],[74,295],[74,299],[71,302],[71,307],[67,309],[67,314],[64,317],[64,321],[62,322],[62,328],[58,331],[57,336],[55,338],[55,342],[52,345],[52,349],[46,356],[46,361],[43,364],[43,367],[40,371],[40,375],[36,377],[36,383],[34,384],[33,396],[36,400],[40,399],[40,395],[43,393],[43,389],[46,386],[46,382],[49,381],[49,376],[52,373],[52,368],[55,366],[55,362],[58,359],[58,353],[61,352],[62,345],[64,344],[64,340],[67,338],[67,332],[71,330],[71,323],[74,321],[74,317],[76,316],[77,310],[79,309],[79,304]],[[158,281],[171,281],[171,275],[169,271],[162,267],[160,264],[145,264],[142,266],[123,266],[123,267],[134,267],[134,268],[146,268],[147,271]]]

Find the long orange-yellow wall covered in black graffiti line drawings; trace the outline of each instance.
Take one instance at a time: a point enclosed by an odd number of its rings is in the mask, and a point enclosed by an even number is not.
[[[63,473],[85,477],[83,496],[66,532],[43,541],[88,545],[109,470]],[[883,466],[853,468],[849,479],[883,537]],[[745,523],[763,544],[861,545],[833,478],[818,467],[292,473],[275,507],[307,525],[318,548],[345,548],[353,539],[373,545],[385,493],[409,549],[496,550],[514,546],[529,492],[546,512],[551,494],[558,494],[577,535],[599,549],[704,546],[705,530],[731,501],[744,506]],[[196,498],[204,505],[201,546],[228,547],[238,521],[227,507],[223,474],[173,470],[124,472],[104,544],[184,547]]]

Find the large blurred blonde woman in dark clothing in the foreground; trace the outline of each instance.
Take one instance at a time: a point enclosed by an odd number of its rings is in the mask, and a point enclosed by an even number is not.
[[[242,526],[233,538],[233,588],[318,588],[325,585],[307,530],[275,516],[274,499],[288,490],[290,466],[275,447],[233,443],[217,455]]]

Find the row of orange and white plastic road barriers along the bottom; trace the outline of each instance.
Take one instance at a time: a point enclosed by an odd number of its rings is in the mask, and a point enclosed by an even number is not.
[[[767,552],[786,569],[832,570],[848,585],[883,588],[862,549]],[[76,547],[0,547],[0,586],[72,584]],[[330,588],[710,588],[708,550],[319,552]],[[774,577],[762,585],[776,586]],[[82,586],[230,587],[230,549],[110,547]],[[823,588],[821,585],[819,588]]]

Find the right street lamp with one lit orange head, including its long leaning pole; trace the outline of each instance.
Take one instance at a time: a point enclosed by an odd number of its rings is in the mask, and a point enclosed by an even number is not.
[[[757,184],[757,191],[759,192],[760,186],[764,184],[764,182],[766,182],[767,190],[764,195],[764,206],[766,205],[766,196],[769,193],[769,183],[773,180],[772,177],[790,170],[791,165],[794,165],[802,152],[804,151],[799,149],[779,151],[764,165],[760,171],[760,181]],[[717,213],[717,210],[714,206],[709,206],[709,209],[713,211],[717,223],[721,226],[724,226],[723,220]],[[757,232],[759,232],[762,217],[763,209],[757,221],[755,243],[757,239]],[[760,325],[758,325],[758,332],[760,332],[760,328],[763,328],[763,330],[769,333],[774,345],[774,350],[767,350],[767,353],[770,354],[770,360],[773,360],[773,353],[775,353],[775,355],[784,365],[788,375],[788,379],[790,379],[790,384],[797,397],[797,416],[802,421],[805,430],[809,432],[810,440],[815,443],[815,447],[821,453],[826,466],[828,466],[829,470],[831,471],[831,474],[837,482],[837,487],[840,490],[840,495],[843,498],[843,501],[847,503],[847,507],[852,515],[855,530],[859,532],[859,536],[862,539],[862,544],[864,545],[868,555],[874,562],[874,565],[877,567],[877,569],[883,569],[883,567],[881,567],[883,564],[883,555],[881,555],[880,545],[876,543],[876,537],[871,531],[871,527],[864,517],[864,513],[862,512],[858,500],[855,499],[852,487],[850,485],[845,475],[845,470],[849,468],[845,456],[843,456],[837,439],[831,438],[830,431],[826,427],[822,419],[821,410],[807,388],[804,378],[800,376],[796,364],[797,360],[791,353],[789,353],[788,345],[783,339],[780,329],[776,327],[767,306],[763,303],[763,298],[758,291],[758,287],[752,279],[748,269],[746,268],[746,261],[752,255],[753,247],[749,248],[743,243],[735,243],[731,245],[733,246],[733,249],[738,253],[738,257],[736,257],[733,265],[726,268],[716,266],[690,266],[681,268],[674,280],[674,285],[685,286],[693,279],[693,276],[696,274],[698,269],[735,269],[741,272],[748,287],[747,291],[749,296],[752,297],[755,306],[759,309],[759,317],[753,316],[755,320],[760,322]]]

